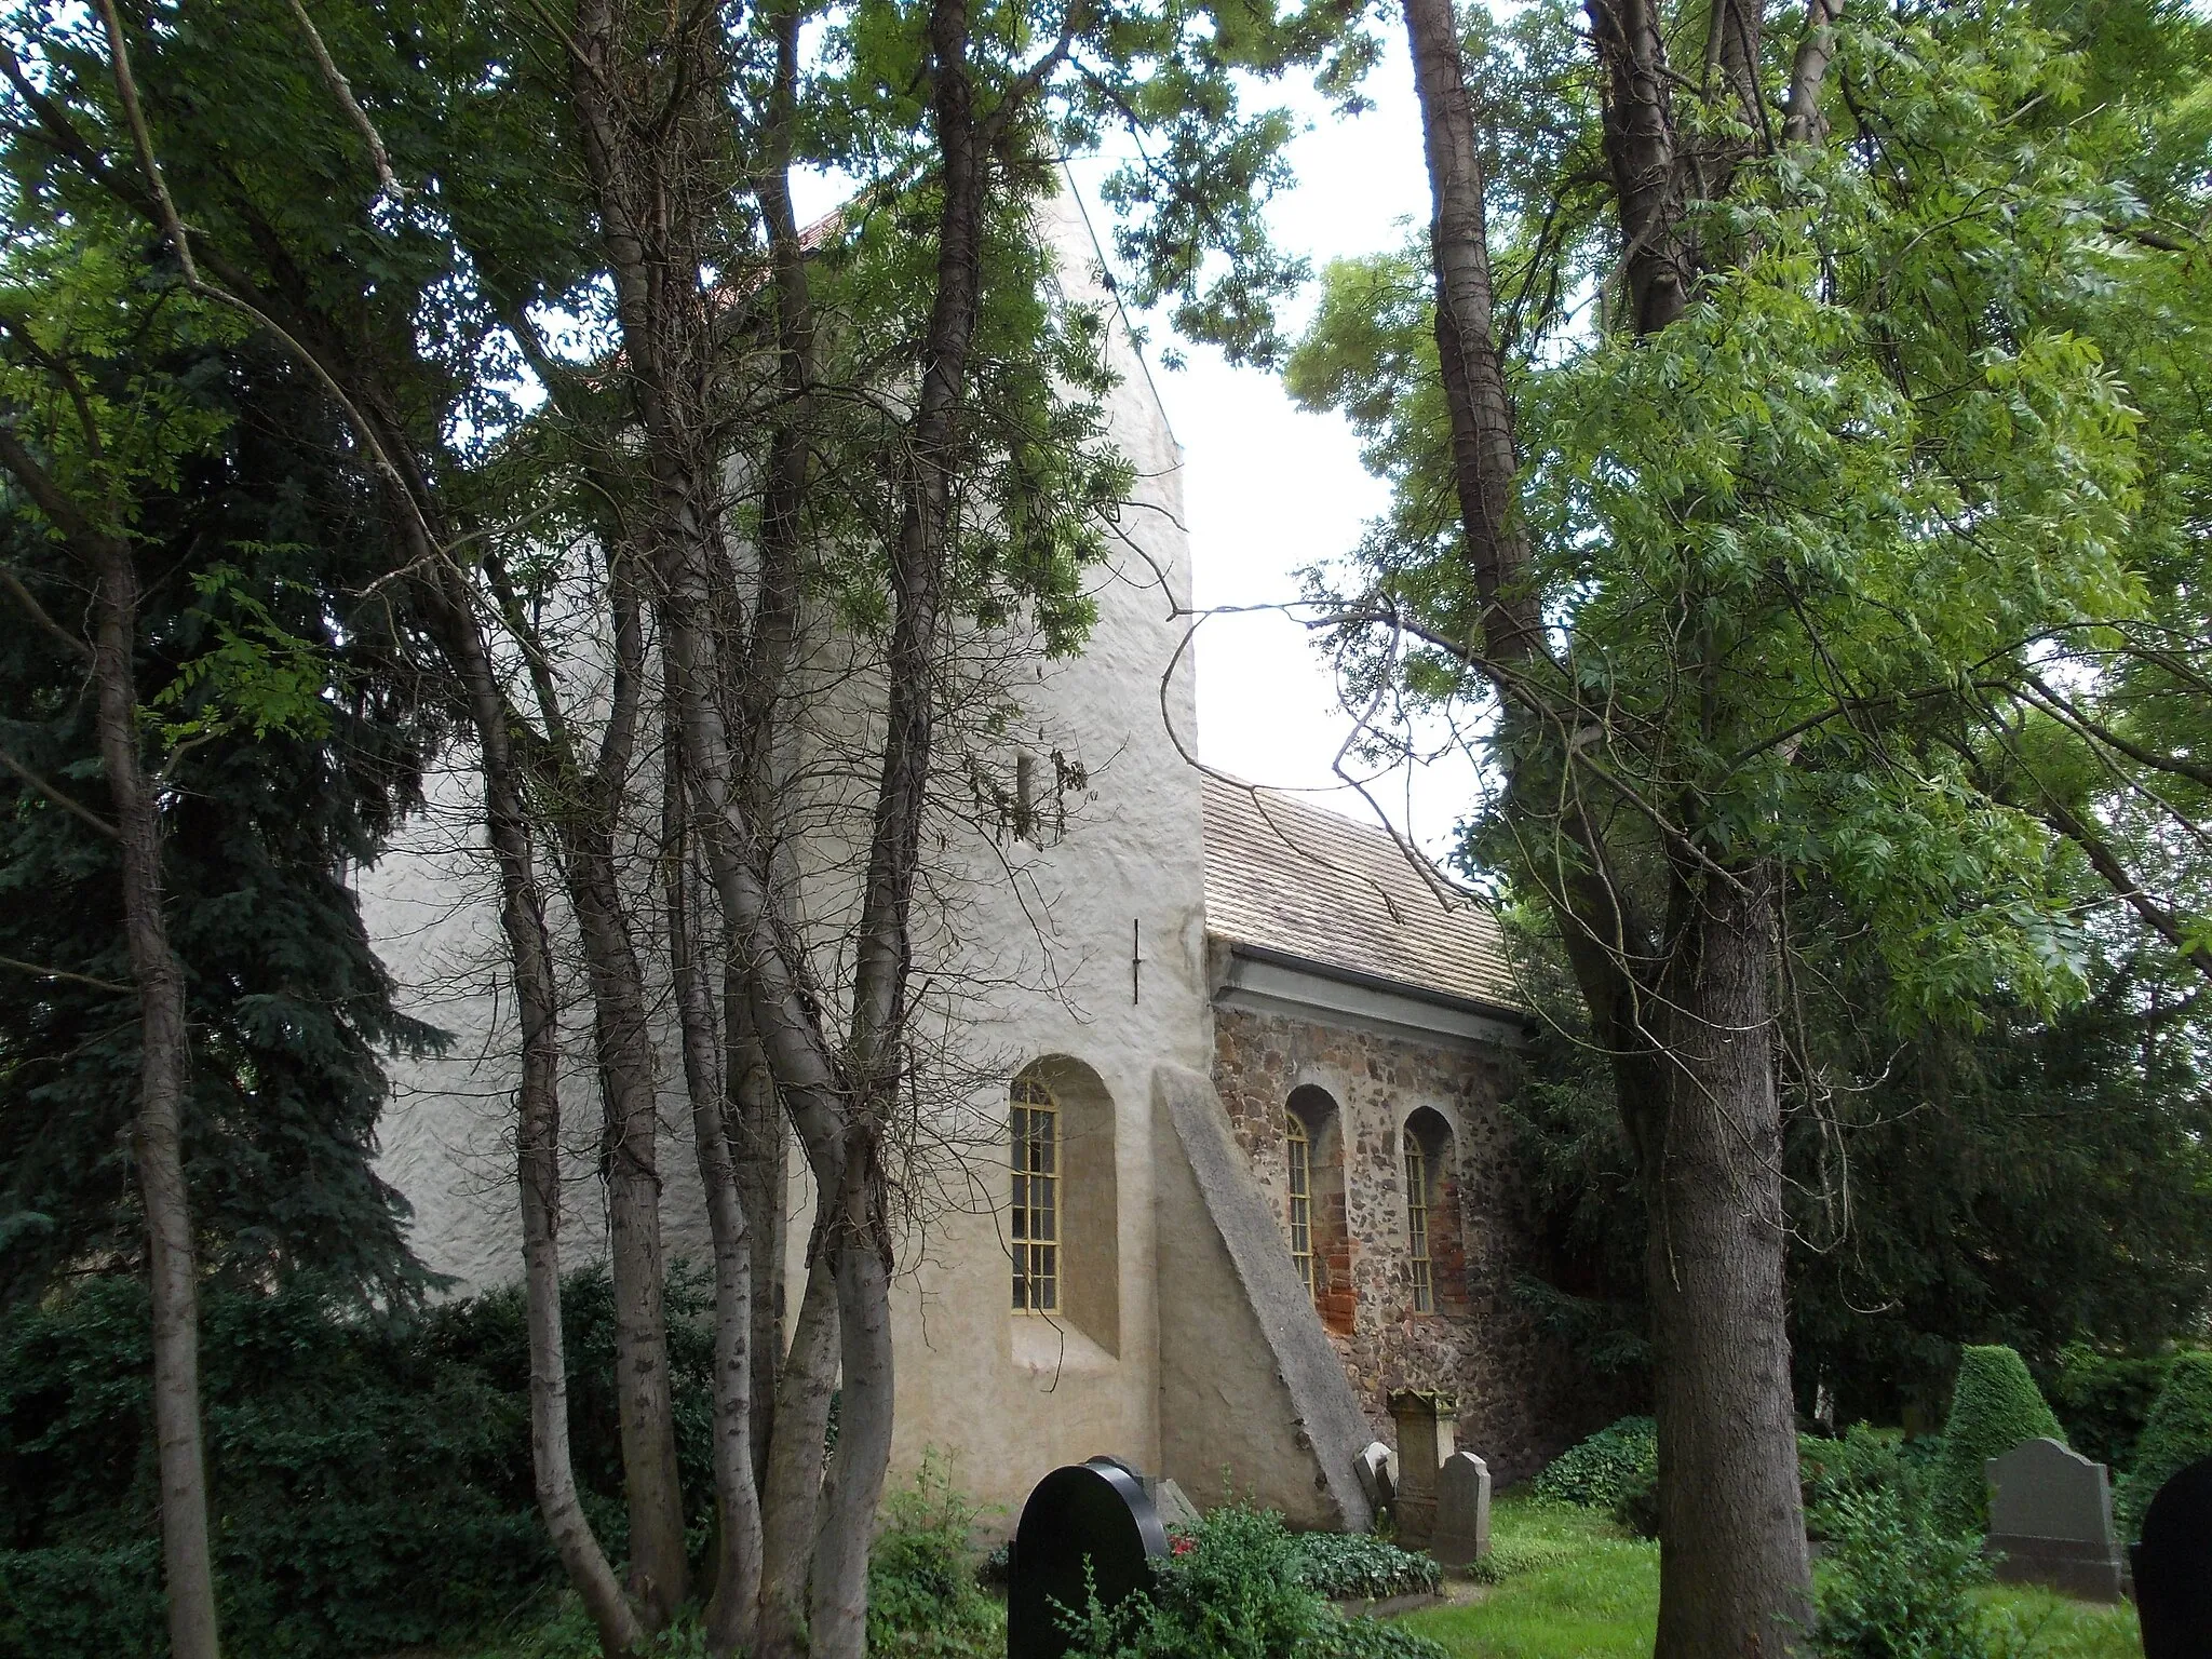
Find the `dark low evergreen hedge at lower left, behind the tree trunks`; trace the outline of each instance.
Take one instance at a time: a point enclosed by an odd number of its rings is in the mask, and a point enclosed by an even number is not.
[[[708,1480],[697,1279],[670,1281],[686,1486]],[[564,1285],[584,1502],[622,1551],[613,1296]],[[166,1648],[146,1292],[97,1276],[0,1316],[0,1652]],[[217,1588],[239,1659],[341,1659],[449,1641],[531,1608],[560,1566],[531,1489],[520,1292],[380,1314],[299,1276],[206,1301]]]

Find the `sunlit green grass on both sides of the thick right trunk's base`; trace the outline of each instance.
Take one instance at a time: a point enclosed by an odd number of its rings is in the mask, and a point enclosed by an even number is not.
[[[1473,1606],[1407,1615],[1453,1659],[1646,1659],[1659,1624],[1659,1546],[1588,1509],[1500,1498],[1491,1511],[1500,1584]],[[2004,1632],[2004,1659],[2141,1659],[2130,1606],[1991,1586],[1975,1599]]]

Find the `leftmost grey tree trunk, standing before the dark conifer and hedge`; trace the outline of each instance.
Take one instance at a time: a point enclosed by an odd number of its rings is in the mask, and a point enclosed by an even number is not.
[[[100,759],[115,801],[124,933],[139,993],[139,1117],[133,1137],[146,1201],[153,1301],[153,1416],[161,1471],[161,1573],[177,1659],[217,1659],[208,1469],[199,1427],[199,1250],[184,1186],[184,967],[161,916],[161,818],[139,761],[137,568],[115,542],[97,560],[93,684]]]

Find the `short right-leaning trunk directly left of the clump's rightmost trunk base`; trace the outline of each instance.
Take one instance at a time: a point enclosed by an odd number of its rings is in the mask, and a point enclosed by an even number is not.
[[[810,1256],[799,1325],[776,1387],[776,1438],[763,1475],[770,1526],[754,1659],[794,1659],[807,1650],[807,1566],[814,1559],[823,1440],[838,1365],[836,1274],[818,1248]]]

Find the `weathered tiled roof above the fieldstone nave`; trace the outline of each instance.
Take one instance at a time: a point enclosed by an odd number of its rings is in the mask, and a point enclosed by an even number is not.
[[[1517,1009],[1498,922],[1447,900],[1389,830],[1206,779],[1206,931],[1316,967]]]

